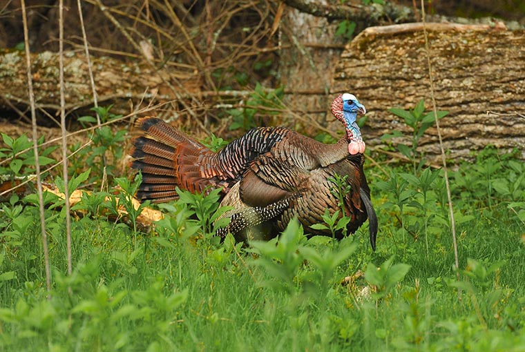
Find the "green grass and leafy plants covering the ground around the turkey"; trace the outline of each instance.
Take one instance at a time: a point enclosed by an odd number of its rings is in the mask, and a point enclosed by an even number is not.
[[[367,170],[376,253],[366,225],[335,243],[292,223],[278,244],[221,244],[207,221],[216,194],[184,194],[151,233],[74,218],[70,277],[64,214],[48,206],[50,300],[37,208],[13,198],[0,204],[0,351],[525,351],[525,185],[514,162],[489,149],[452,173],[459,280],[441,177],[424,200],[405,184],[401,228],[391,179]],[[391,176],[415,182],[403,178],[412,167]],[[369,282],[377,290],[362,297]]]

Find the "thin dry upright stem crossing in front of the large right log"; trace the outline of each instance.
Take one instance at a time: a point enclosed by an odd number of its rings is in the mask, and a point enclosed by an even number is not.
[[[447,189],[447,198],[448,198],[448,209],[450,211],[450,228],[452,229],[452,243],[454,246],[454,259],[456,266],[456,276],[459,280],[459,258],[457,254],[457,238],[456,238],[456,224],[454,220],[454,208],[452,206],[452,195],[450,194],[450,184],[448,182],[448,171],[447,171],[447,162],[445,157],[445,149],[443,148],[443,139],[441,138],[441,128],[439,128],[439,120],[437,119],[437,107],[435,99],[435,88],[434,80],[432,79],[432,64],[430,63],[430,47],[428,45],[428,33],[426,30],[426,21],[425,21],[425,5],[424,0],[421,0],[421,17],[423,19],[423,34],[425,35],[425,51],[428,64],[428,77],[430,79],[430,95],[432,97],[432,109],[434,110],[434,119],[436,121],[437,137],[439,138],[439,147],[441,148],[441,161],[443,162],[443,173],[445,174],[445,185]],[[458,299],[461,300],[461,289],[457,289]]]

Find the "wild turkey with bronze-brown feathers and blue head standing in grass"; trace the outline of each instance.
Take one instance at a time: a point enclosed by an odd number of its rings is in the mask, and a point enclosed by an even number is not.
[[[325,209],[333,215],[340,208],[332,179],[346,176],[350,192],[344,195],[344,213],[351,219],[347,232],[354,233],[368,218],[375,251],[377,219],[363,173],[365,143],[356,124],[357,114],[366,110],[345,93],[332,102],[332,113],[346,130],[336,144],[283,127],[259,127],[218,153],[161,119],[138,119],[137,126],[146,133],[133,140],[130,153],[131,167],[142,171],[137,198],[166,202],[178,197],[177,186],[192,193],[222,187],[221,205],[234,208],[227,214],[230,224],[218,231],[222,237],[231,232],[243,239],[247,229],[260,224],[270,228],[263,237],[273,237],[294,217],[307,233],[331,235],[310,226],[323,222]],[[341,236],[338,231],[336,237]]]

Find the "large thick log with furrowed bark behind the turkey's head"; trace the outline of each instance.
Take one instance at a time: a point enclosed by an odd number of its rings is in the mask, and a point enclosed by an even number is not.
[[[489,26],[428,23],[428,46],[444,148],[450,159],[473,157],[492,144],[519,148],[525,159],[525,33]],[[367,28],[347,45],[334,70],[332,92],[352,92],[368,109],[363,138],[387,148],[381,137],[401,130],[396,143],[412,144],[411,131],[389,108],[414,108],[432,95],[421,23]],[[419,151],[436,161],[436,128]]]

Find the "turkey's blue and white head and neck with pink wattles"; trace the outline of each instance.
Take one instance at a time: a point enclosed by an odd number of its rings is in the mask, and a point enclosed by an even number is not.
[[[357,126],[357,115],[365,115],[366,108],[349,93],[339,95],[332,102],[332,114],[345,125],[348,153],[355,155],[365,153],[365,142],[361,137],[361,130]]]

